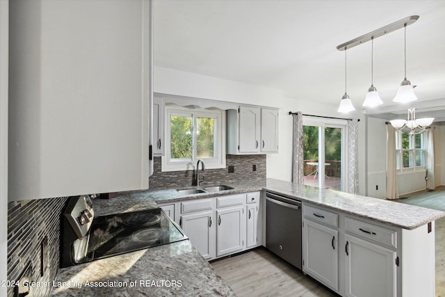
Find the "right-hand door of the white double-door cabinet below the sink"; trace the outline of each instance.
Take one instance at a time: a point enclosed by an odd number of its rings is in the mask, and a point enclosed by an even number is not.
[[[216,256],[238,252],[244,248],[244,207],[231,207],[216,211]]]

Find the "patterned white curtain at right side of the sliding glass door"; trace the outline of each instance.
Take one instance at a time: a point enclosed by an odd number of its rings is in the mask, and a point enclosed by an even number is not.
[[[358,122],[356,119],[348,121],[348,163],[349,163],[349,193],[359,193],[358,182]]]

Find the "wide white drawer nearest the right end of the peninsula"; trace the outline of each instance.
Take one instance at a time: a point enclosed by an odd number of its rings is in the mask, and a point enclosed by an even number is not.
[[[397,248],[397,231],[348,217],[345,218],[345,230],[366,239]]]

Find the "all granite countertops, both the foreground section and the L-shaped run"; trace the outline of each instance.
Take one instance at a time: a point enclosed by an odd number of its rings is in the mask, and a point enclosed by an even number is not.
[[[133,191],[119,193],[111,200],[95,199],[93,204],[95,215],[103,216],[153,208],[165,202],[266,190],[407,230],[445,216],[444,211],[278,179],[233,182],[229,186],[234,189],[193,195],[180,194],[175,189]],[[102,287],[91,287],[99,284]],[[235,296],[188,240],[62,268],[53,286],[51,296]]]

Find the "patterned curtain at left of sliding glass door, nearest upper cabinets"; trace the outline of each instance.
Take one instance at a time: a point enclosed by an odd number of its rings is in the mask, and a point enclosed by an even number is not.
[[[292,136],[292,182],[304,184],[303,164],[303,115],[301,111],[293,113],[293,136]]]

